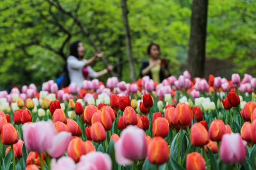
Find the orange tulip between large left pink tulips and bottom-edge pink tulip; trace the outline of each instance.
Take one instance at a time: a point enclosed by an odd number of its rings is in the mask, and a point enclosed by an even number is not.
[[[67,147],[67,156],[77,163],[82,155],[86,154],[86,149],[81,138],[74,138]]]

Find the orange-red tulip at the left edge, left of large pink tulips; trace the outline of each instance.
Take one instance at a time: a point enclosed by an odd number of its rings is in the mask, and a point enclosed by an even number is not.
[[[12,145],[18,142],[18,133],[12,124],[7,123],[2,127],[1,141],[5,145]]]

